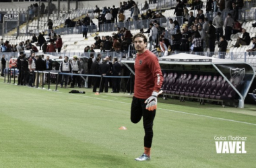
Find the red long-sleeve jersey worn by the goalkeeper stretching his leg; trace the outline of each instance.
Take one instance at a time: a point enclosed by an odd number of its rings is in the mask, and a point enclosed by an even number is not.
[[[134,96],[148,99],[153,91],[159,91],[162,86],[162,71],[155,54],[146,50],[135,58]]]

